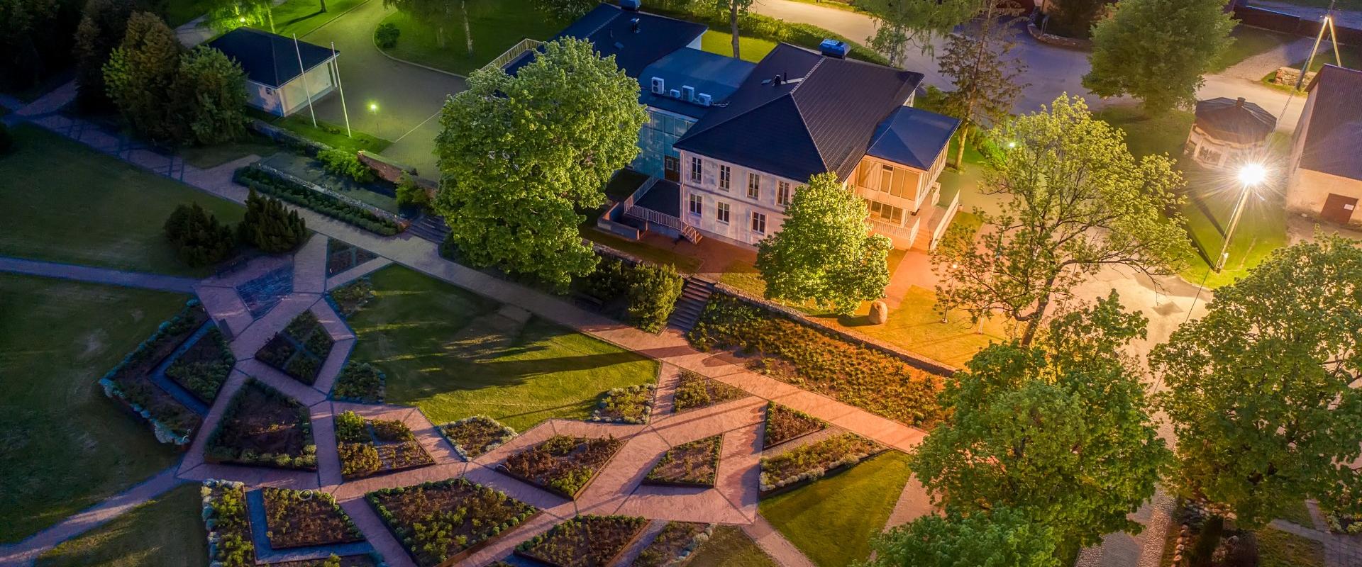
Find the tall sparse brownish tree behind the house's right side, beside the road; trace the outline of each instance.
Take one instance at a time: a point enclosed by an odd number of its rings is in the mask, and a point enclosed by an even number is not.
[[[1019,82],[1026,73],[1026,64],[1009,57],[1016,48],[1012,19],[1019,14],[1019,10],[989,3],[979,12],[975,26],[947,39],[945,50],[937,58],[941,75],[955,84],[955,90],[947,92],[941,110],[960,118],[956,169],[964,166],[970,136],[981,126],[1011,116],[1012,105],[1026,88]]]

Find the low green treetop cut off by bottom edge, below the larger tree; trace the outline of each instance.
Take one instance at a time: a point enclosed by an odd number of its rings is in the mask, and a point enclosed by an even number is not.
[[[1054,529],[996,507],[923,515],[876,536],[869,567],[1060,567]]]

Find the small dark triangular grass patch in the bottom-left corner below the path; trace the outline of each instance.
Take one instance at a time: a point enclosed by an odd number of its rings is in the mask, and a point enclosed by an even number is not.
[[[206,567],[199,484],[184,484],[68,540],[35,567]]]

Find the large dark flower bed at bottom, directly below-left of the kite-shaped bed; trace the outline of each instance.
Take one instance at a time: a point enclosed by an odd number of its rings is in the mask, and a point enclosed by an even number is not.
[[[384,488],[366,498],[421,567],[477,549],[539,511],[462,477]]]

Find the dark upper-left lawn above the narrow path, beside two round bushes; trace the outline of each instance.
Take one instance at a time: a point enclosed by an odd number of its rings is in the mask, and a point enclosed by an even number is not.
[[[204,276],[161,231],[176,205],[199,203],[237,223],[244,208],[34,126],[14,129],[0,158],[0,254],[138,272]]]

